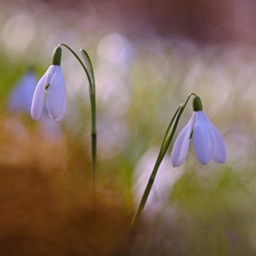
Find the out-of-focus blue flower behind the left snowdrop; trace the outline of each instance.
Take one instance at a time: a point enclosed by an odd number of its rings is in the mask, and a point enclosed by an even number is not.
[[[30,114],[32,97],[38,83],[38,78],[35,73],[28,71],[20,81],[15,85],[14,90],[11,91],[8,108],[11,112],[26,112]]]

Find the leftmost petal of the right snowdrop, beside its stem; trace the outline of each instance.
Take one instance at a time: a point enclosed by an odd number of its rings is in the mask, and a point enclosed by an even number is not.
[[[189,137],[193,129],[194,121],[195,113],[193,113],[188,125],[186,125],[177,136],[176,142],[174,143],[172,148],[171,160],[173,167],[182,165],[184,159],[186,158],[186,155],[188,154]]]

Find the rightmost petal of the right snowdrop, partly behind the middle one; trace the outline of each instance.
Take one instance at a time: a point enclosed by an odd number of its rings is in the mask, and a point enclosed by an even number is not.
[[[224,163],[226,160],[226,148],[224,144],[223,137],[221,136],[218,129],[212,124],[212,122],[207,118],[207,115],[204,114],[207,124],[209,125],[212,136],[214,140],[214,149],[212,154],[212,160],[215,160],[218,163]]]

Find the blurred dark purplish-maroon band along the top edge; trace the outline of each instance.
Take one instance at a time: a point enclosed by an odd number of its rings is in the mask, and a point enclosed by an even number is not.
[[[113,27],[119,26],[127,37],[153,32],[159,36],[173,34],[186,36],[203,43],[230,40],[255,41],[256,3],[249,0],[45,0],[42,2],[53,9],[79,9],[80,15],[86,15],[89,9],[93,9],[103,20],[112,20]],[[108,28],[111,29],[110,26]]]

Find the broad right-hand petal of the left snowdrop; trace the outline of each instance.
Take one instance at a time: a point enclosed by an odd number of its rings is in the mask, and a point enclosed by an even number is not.
[[[55,74],[50,80],[49,92],[46,100],[46,106],[47,106],[49,115],[53,119],[58,119],[61,116],[63,108],[65,107],[65,104],[66,104],[65,101],[66,101],[65,81],[63,79],[63,75],[61,72],[61,67],[55,66]]]

